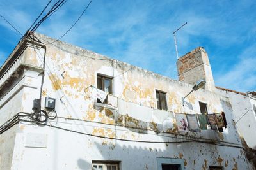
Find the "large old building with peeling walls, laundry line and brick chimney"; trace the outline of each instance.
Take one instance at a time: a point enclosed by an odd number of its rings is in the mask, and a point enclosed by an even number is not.
[[[177,67],[179,81],[42,34],[22,39],[0,69],[0,169],[253,169],[204,48]],[[227,127],[188,127],[222,112]]]

